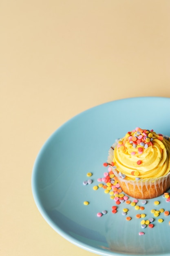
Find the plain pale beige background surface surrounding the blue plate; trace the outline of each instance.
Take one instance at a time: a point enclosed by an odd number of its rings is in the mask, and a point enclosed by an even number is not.
[[[40,215],[33,163],[83,110],[170,97],[169,13],[169,0],[0,1],[0,255],[94,255]]]

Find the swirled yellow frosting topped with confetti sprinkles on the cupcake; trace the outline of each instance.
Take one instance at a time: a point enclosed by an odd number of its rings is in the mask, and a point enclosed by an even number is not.
[[[136,128],[119,140],[113,164],[127,180],[158,178],[170,172],[170,141],[153,130]]]

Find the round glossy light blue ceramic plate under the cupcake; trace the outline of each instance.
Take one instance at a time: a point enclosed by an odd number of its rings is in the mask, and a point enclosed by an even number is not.
[[[170,211],[163,196],[147,200],[145,209],[135,210],[125,202],[112,213],[115,201],[104,189],[93,190],[97,178],[108,171],[108,150],[115,139],[137,126],[170,136],[170,99],[139,97],[122,99],[91,108],[57,129],[46,141],[35,161],[33,197],[49,225],[71,243],[100,255],[170,255],[170,215],[153,217],[151,209]],[[83,185],[91,172],[92,184]],[[133,198],[130,198],[132,201]],[[155,205],[155,200],[160,202]],[[88,201],[88,205],[84,205]],[[137,203],[142,205],[142,200]],[[126,220],[122,215],[128,208]],[[106,210],[101,218],[98,212]],[[141,228],[137,213],[154,218],[154,227]],[[158,219],[163,222],[158,222]],[[139,236],[139,232],[145,234]]]

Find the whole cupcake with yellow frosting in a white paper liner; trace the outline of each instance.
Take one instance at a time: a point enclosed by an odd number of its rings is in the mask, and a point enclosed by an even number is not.
[[[113,144],[108,164],[127,195],[138,199],[162,195],[170,188],[169,137],[137,127]]]

